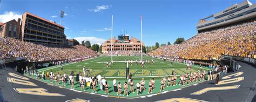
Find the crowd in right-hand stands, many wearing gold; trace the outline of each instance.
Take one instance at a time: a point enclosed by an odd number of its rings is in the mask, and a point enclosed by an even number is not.
[[[212,60],[221,55],[255,58],[255,22],[246,22],[196,36],[181,44],[165,45],[151,56]]]

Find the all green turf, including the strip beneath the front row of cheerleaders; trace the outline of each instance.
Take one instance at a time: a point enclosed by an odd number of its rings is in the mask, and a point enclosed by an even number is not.
[[[113,60],[114,61],[124,61],[124,60],[139,60],[140,56],[113,56]],[[149,56],[144,56],[143,57],[144,60],[148,60],[150,63],[148,63],[147,65],[145,65],[145,67],[142,67],[142,65],[140,65],[138,63],[138,65],[135,65],[135,63],[133,63],[133,65],[129,65],[130,67],[130,72],[133,74],[133,80],[135,83],[138,83],[142,78],[145,79],[146,84],[146,91],[142,92],[139,94],[140,96],[146,96],[149,95],[147,94],[147,87],[148,87],[148,83],[149,83],[149,79],[151,78],[155,78],[156,79],[156,90],[153,90],[152,94],[156,94],[160,92],[160,79],[163,78],[163,76],[171,76],[172,74],[172,69],[174,69],[174,72],[177,73],[177,75],[179,76],[179,74],[185,74],[185,73],[190,73],[191,71],[198,71],[199,67],[198,66],[193,66],[192,70],[186,70],[186,65],[182,64],[182,63],[173,63],[173,65],[170,64],[169,61],[164,61],[161,59],[157,59],[157,58],[152,58]],[[151,64],[151,59],[155,60],[154,64]],[[111,65],[112,67],[107,68],[106,67],[106,62],[111,62],[111,57],[110,56],[102,56],[102,57],[97,57],[97,58],[92,58],[89,60],[84,60],[83,62],[78,62],[78,63],[73,63],[72,65],[70,64],[64,64],[63,65],[63,69],[64,71],[60,71],[60,66],[51,66],[51,67],[46,67],[44,69],[39,69],[38,72],[42,73],[42,71],[45,71],[45,73],[53,71],[54,73],[60,73],[63,74],[64,72],[67,74],[70,74],[70,72],[73,70],[76,73],[83,72],[83,66],[88,67],[89,69],[92,69],[92,71],[90,72],[92,74],[92,76],[94,75],[98,75],[100,74],[103,77],[106,77],[106,80],[109,82],[110,85],[110,94],[108,94],[108,96],[117,96],[116,93],[113,92],[113,85],[112,85],[112,80],[113,78],[117,78],[117,82],[121,82],[122,85],[124,84],[124,81],[127,81],[127,79],[125,79],[125,72],[126,72],[126,63],[124,62],[116,62],[113,63],[113,65]],[[202,70],[207,70],[207,67],[203,67]],[[87,74],[87,73],[86,73]],[[35,76],[34,76],[35,78]],[[43,80],[43,79],[39,79],[41,81],[45,81],[46,83],[50,83],[49,79]],[[179,81],[179,80],[177,80]],[[59,82],[59,85],[57,86],[61,86],[62,82]],[[178,82],[177,82],[178,83]],[[199,83],[199,82],[197,82]],[[55,83],[52,83],[52,85]],[[196,84],[196,83],[194,83]],[[167,83],[166,83],[167,85]],[[185,85],[187,86],[187,85]],[[171,87],[165,87],[165,91],[170,91],[170,90],[174,90],[174,89],[180,89],[182,87],[185,86],[171,86]],[[65,86],[66,88],[70,88],[71,86],[69,84],[67,84]],[[79,84],[75,84],[76,87],[76,91],[80,91],[80,86]],[[123,87],[123,86],[122,86]],[[92,90],[89,87],[85,87],[85,91],[84,92],[92,92]],[[105,92],[99,89],[99,86],[97,86],[97,94],[104,94]],[[130,87],[129,87],[130,90]],[[83,91],[81,91],[83,92]],[[122,92],[123,92],[123,88],[122,88]],[[120,96],[123,97],[123,96]],[[129,93],[129,98],[133,98],[133,97],[138,97],[137,93]]]

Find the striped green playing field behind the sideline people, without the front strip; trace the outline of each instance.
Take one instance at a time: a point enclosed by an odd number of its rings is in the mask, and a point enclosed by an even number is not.
[[[128,61],[128,60],[140,60],[140,56],[113,56],[113,61]],[[154,64],[151,63],[151,60],[154,59]],[[144,56],[143,60],[147,60],[148,63],[145,64],[144,67],[138,62],[137,65],[135,62],[131,65],[129,64],[130,73],[134,78],[139,77],[163,77],[171,75],[172,69],[174,69],[174,73],[177,75],[179,74],[186,74],[194,71],[198,71],[198,66],[193,66],[191,70],[187,70],[187,66],[182,63],[173,62],[171,64],[169,61],[164,61],[157,58],[152,58],[148,56]],[[73,63],[71,64],[64,64],[63,69],[64,71],[60,70],[60,66],[53,66],[46,68],[45,72],[53,71],[54,73],[67,73],[69,74],[71,71],[75,73],[82,72],[83,73],[83,66],[86,66],[88,69],[91,69],[90,73],[91,76],[100,74],[106,78],[124,78],[126,73],[126,66],[125,62],[114,62],[111,67],[106,67],[106,62],[111,62],[111,56],[102,56],[97,58],[92,58],[89,60],[85,60],[83,62]],[[202,70],[202,69],[201,69]],[[43,70],[41,70],[43,71]],[[39,71],[39,72],[41,72]],[[87,74],[88,72],[86,72]]]

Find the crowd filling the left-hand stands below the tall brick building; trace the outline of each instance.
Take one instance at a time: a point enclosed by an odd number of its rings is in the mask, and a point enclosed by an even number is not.
[[[50,46],[4,37],[0,38],[0,58],[23,57],[29,62],[51,60],[77,59],[97,56],[95,51],[82,45],[76,46]]]

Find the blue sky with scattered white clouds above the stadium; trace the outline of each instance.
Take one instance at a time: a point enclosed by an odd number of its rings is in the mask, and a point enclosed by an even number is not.
[[[102,44],[125,30],[140,39],[140,16],[143,16],[143,43],[152,46],[173,44],[197,34],[199,19],[222,11],[244,0],[0,0],[0,22],[21,18],[25,11],[60,24],[59,12],[65,12],[62,25],[67,38]],[[253,4],[256,0],[251,0]]]

